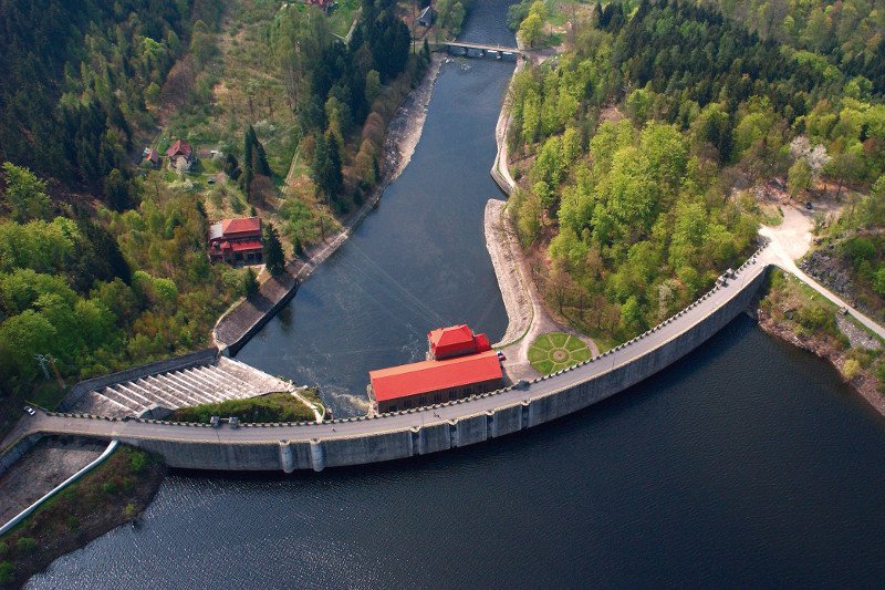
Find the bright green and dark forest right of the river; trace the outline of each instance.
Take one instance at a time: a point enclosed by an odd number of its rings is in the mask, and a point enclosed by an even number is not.
[[[596,4],[565,54],[516,76],[512,209],[568,321],[611,344],[691,301],[756,247],[759,182],[810,198],[885,172],[882,60],[847,32],[820,53],[793,22],[795,37],[716,6]]]

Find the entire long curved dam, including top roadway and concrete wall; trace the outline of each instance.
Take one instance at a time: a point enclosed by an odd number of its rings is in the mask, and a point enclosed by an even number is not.
[[[425,455],[488,441],[555,420],[610,397],[674,363],[752,301],[768,267],[760,249],[732,276],[642,337],[575,368],[483,395],[376,417],[239,428],[143,418],[40,413],[19,441],[46,434],[119,439],[159,453],[173,467],[321,470]]]

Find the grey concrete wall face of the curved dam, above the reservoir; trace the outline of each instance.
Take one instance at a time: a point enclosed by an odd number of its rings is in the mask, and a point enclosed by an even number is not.
[[[218,444],[184,441],[124,441],[159,453],[173,467],[221,470],[321,470],[437,453],[481,443],[556,420],[610,397],[662,371],[688,354],[743,311],[756,297],[766,272],[701,322],[632,362],[590,381],[542,397],[502,405],[450,422],[381,434],[324,441]],[[594,361],[594,362],[604,362]],[[268,426],[273,427],[273,426]],[[207,434],[211,433],[207,428]]]

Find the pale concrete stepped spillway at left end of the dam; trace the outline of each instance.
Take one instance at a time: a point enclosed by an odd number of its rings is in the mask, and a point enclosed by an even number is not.
[[[293,390],[290,383],[222,356],[212,364],[145,375],[91,391],[79,410],[108,416],[139,416],[155,407],[176,410]]]

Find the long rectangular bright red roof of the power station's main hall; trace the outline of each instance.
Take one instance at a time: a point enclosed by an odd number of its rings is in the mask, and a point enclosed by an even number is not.
[[[493,350],[444,361],[391,366],[368,373],[377,402],[501,377],[501,363]]]

